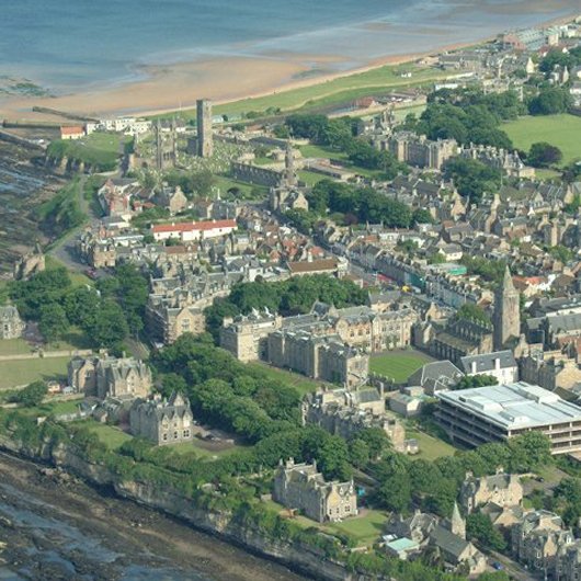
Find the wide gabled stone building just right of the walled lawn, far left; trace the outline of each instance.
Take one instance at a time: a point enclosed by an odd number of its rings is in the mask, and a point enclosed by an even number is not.
[[[75,391],[100,399],[147,397],[152,386],[151,371],[134,357],[112,357],[102,353],[73,357],[68,364],[68,384]]]

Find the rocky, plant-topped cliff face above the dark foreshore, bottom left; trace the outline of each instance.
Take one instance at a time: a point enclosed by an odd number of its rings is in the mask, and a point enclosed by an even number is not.
[[[113,490],[118,497],[178,517],[195,529],[214,535],[260,557],[281,562],[315,579],[324,581],[378,579],[375,576],[350,572],[343,563],[327,558],[322,550],[314,547],[267,538],[257,528],[233,522],[227,511],[200,509],[180,491],[153,482],[123,479],[106,467],[83,458],[67,444],[55,447],[41,444],[38,448],[32,448],[12,440],[9,435],[1,434],[0,448],[32,462],[61,468],[92,486]]]

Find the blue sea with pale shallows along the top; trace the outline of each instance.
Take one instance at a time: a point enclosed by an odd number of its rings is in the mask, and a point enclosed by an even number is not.
[[[217,56],[375,58],[471,42],[580,11],[579,0],[4,0],[0,78],[56,94]]]

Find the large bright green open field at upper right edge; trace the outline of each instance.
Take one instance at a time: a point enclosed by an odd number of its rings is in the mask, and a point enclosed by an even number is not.
[[[547,141],[562,151],[562,164],[581,159],[581,117],[566,114],[521,117],[501,128],[517,149],[528,151],[533,144]]]

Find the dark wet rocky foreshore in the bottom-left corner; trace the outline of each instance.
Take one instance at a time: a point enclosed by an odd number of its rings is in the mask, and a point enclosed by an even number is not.
[[[0,579],[305,579],[61,470],[0,454]]]

